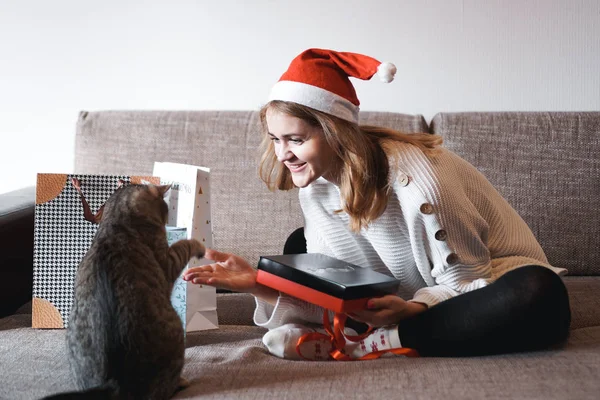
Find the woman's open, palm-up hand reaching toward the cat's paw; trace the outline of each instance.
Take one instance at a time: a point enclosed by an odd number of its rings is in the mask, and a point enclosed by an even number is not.
[[[215,263],[189,268],[183,274],[184,280],[235,292],[255,290],[256,270],[243,258],[213,249],[206,249],[204,257]]]

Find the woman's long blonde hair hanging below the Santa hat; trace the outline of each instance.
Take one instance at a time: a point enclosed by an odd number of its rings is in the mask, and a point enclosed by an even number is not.
[[[273,142],[268,135],[267,110],[272,109],[300,118],[323,130],[327,144],[341,160],[340,194],[342,209],[350,217],[354,232],[367,227],[387,206],[391,190],[389,160],[399,151],[400,143],[409,143],[431,153],[441,145],[442,138],[429,133],[406,134],[393,129],[361,125],[334,117],[312,108],[285,101],[271,101],[260,110],[264,137],[259,175],[270,190],[293,189],[288,168],[277,160]]]

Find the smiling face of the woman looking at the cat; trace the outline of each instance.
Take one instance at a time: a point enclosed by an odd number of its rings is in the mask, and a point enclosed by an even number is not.
[[[320,126],[272,108],[267,110],[266,121],[275,155],[290,170],[294,185],[303,188],[321,176],[338,183],[338,157]]]

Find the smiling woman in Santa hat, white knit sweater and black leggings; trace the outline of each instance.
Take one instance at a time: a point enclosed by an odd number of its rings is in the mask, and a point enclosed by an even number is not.
[[[563,341],[570,309],[562,268],[548,264],[531,230],[472,165],[430,134],[359,126],[349,76],[392,80],[395,67],[361,54],[309,49],[290,64],[261,110],[261,178],[299,187],[309,253],[400,281],[350,317],[377,327],[344,352],[407,347],[422,356],[546,348]],[[302,235],[300,235],[302,236]],[[302,241],[302,238],[300,238]],[[243,259],[209,249],[214,264],[185,279],[252,293],[269,351],[323,359],[331,343],[298,340],[323,310],[256,283]]]

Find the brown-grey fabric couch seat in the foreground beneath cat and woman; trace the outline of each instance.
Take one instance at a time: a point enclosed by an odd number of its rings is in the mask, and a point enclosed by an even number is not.
[[[74,388],[64,330],[0,320],[0,398],[34,399]],[[29,316],[30,317],[30,316]],[[578,329],[555,350],[471,358],[287,361],[269,355],[264,329],[192,333],[180,399],[592,399],[600,391],[600,327]]]

